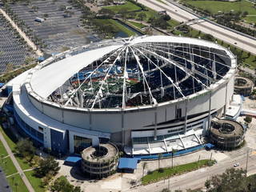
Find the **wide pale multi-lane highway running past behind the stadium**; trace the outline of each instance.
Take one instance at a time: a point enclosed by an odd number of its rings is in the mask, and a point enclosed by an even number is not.
[[[158,2],[157,0],[138,0],[138,2],[150,7],[153,10],[166,10],[167,14],[169,14],[171,18],[177,20],[178,22],[186,22],[190,19],[198,18],[194,14],[190,14],[186,10],[175,6],[173,3],[167,2],[166,0],[162,0],[162,2],[165,2],[165,4]],[[218,38],[223,42],[227,42],[231,45],[237,46],[242,50],[246,50],[251,54],[256,55],[256,41],[251,38],[247,38],[241,34],[236,34],[233,31],[226,30],[220,26],[216,26],[213,23],[206,21],[199,22],[192,25],[191,27],[195,30],[201,30],[203,33],[212,34],[215,38]]]

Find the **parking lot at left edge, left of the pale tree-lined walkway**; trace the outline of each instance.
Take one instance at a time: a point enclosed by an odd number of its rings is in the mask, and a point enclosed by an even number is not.
[[[28,47],[19,40],[18,34],[0,14],[0,74],[6,72],[7,64],[12,69],[23,65],[26,57],[31,56],[29,53]]]

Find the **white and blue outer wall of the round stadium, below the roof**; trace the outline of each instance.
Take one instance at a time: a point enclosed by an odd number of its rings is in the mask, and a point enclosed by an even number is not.
[[[61,106],[40,98],[31,90],[30,79],[26,79],[13,87],[14,117],[17,122],[19,119],[24,122],[23,126],[19,123],[21,130],[27,132],[24,125],[28,125],[42,133],[42,145],[61,154],[74,153],[76,136],[89,138],[93,146],[106,138],[124,148],[133,146],[133,138],[154,137],[158,141],[158,136],[164,134],[178,138],[197,128],[200,128],[198,135],[201,137],[207,134],[211,118],[225,114],[225,108],[232,100],[235,58],[231,58],[231,66],[225,77],[198,93],[157,106],[126,110]],[[182,112],[178,122],[175,121],[177,110]],[[158,146],[158,143],[152,146]],[[138,143],[134,147],[143,148],[146,144]]]

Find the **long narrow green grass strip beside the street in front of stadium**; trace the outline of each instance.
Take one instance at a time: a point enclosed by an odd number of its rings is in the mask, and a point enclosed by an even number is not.
[[[174,166],[174,168],[160,168],[158,170],[150,171],[146,176],[142,178],[142,184],[146,185],[152,182],[158,182],[162,179],[170,178],[174,175],[185,174],[192,170],[198,170],[205,166],[213,166],[216,161],[204,159],[198,162],[190,162],[188,164]]]

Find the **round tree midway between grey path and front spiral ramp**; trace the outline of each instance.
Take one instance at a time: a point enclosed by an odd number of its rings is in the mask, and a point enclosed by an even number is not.
[[[58,162],[53,157],[49,156],[40,160],[38,167],[35,169],[35,174],[39,178],[42,178],[50,173],[50,171],[52,171],[54,175],[57,174],[59,169],[60,166],[58,166]]]

